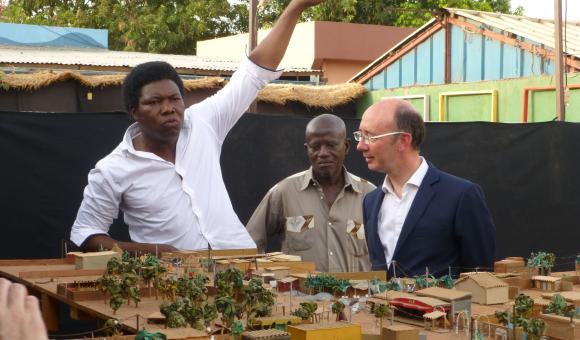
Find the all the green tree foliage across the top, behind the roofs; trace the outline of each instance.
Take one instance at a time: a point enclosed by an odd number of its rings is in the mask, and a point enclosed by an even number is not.
[[[111,50],[194,54],[198,40],[247,32],[249,1],[9,0],[2,20],[107,29]],[[510,1],[327,0],[308,9],[302,20],[418,27],[441,7],[510,13]],[[258,25],[271,27],[289,2],[268,1],[259,10]]]

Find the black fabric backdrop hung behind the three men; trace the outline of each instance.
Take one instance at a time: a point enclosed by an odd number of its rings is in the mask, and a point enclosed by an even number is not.
[[[222,167],[236,212],[247,222],[278,180],[308,166],[310,117],[244,116],[223,148]],[[0,258],[62,254],[87,173],[121,140],[124,113],[0,112]],[[358,120],[347,119],[349,133]],[[479,183],[497,225],[497,258],[553,251],[560,268],[580,253],[580,124],[428,123],[422,154],[439,169]],[[348,169],[379,185],[355,145]],[[114,237],[127,239],[122,221]]]

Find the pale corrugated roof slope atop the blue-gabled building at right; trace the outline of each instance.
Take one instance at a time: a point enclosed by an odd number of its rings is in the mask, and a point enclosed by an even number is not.
[[[551,49],[555,48],[554,20],[455,8],[446,8],[446,10],[489,27],[519,35]],[[580,57],[580,22],[567,21],[562,28],[562,34],[564,34],[564,31],[566,33],[564,51]]]

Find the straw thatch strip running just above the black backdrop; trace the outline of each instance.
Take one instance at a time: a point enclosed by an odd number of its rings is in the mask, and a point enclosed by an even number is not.
[[[12,90],[33,91],[56,82],[72,80],[89,88],[103,88],[120,86],[124,78],[124,74],[83,75],[74,71],[43,71],[30,74],[0,74],[0,86]],[[183,84],[187,91],[195,91],[198,89],[218,89],[223,87],[226,82],[223,78],[206,77],[186,79]],[[270,84],[260,91],[258,101],[277,105],[299,102],[309,107],[331,109],[353,102],[365,92],[366,88],[356,83],[322,86]]]

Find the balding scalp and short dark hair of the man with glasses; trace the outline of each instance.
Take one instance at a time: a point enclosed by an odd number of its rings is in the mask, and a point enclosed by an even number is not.
[[[425,123],[421,115],[408,101],[389,98],[371,105],[364,113],[378,129],[393,125],[398,131],[409,132],[413,137],[412,147],[418,150],[425,138]]]

